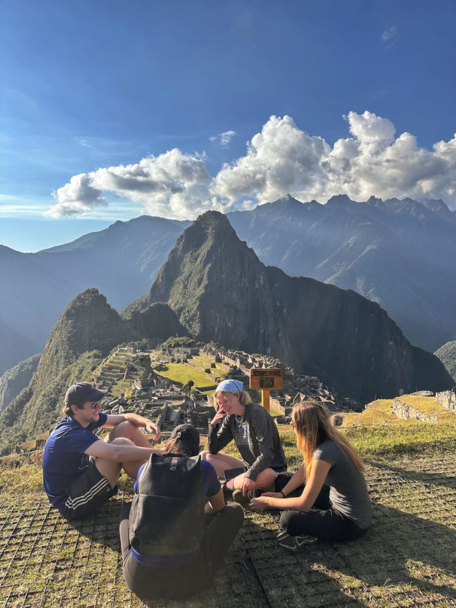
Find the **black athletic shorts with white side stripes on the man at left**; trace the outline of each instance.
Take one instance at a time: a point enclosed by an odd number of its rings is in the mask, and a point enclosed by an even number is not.
[[[95,462],[81,474],[69,488],[68,495],[59,511],[66,519],[85,519],[96,513],[100,506],[117,494],[117,486],[111,488],[106,477],[98,471]]]

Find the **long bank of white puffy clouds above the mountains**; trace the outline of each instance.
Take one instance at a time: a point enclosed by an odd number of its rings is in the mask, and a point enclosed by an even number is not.
[[[47,213],[87,214],[106,206],[108,194],[140,204],[150,215],[177,219],[193,219],[207,209],[248,209],[288,193],[320,202],[340,193],[359,201],[371,195],[441,198],[456,207],[456,135],[427,150],[410,133],[396,135],[393,123],[373,112],[344,118],[348,137],[331,146],[291,117],[271,116],[247,142],[244,156],[224,164],[215,177],[204,153],[177,148],[136,164],[81,173],[53,193],[57,202]]]

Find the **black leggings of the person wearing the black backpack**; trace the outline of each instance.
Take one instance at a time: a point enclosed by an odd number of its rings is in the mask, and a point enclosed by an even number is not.
[[[176,567],[140,564],[131,554],[128,536],[131,503],[120,511],[120,546],[126,584],[143,599],[183,599],[209,585],[228,553],[244,519],[240,505],[227,505],[215,515],[205,515],[206,527],[196,558]]]

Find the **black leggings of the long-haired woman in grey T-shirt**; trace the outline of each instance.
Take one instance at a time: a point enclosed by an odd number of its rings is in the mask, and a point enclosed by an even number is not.
[[[281,473],[275,480],[275,491],[280,492],[289,482],[291,474]],[[289,496],[301,496],[304,486],[290,492]],[[280,525],[290,536],[316,536],[320,541],[354,541],[362,536],[367,528],[360,528],[331,507],[330,487],[323,485],[317,500],[308,513],[287,509],[280,516]]]

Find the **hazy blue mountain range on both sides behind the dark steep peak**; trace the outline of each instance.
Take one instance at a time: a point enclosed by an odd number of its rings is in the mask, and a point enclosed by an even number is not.
[[[413,344],[434,351],[456,339],[456,213],[443,201],[286,196],[227,217],[263,263],[378,302]],[[0,246],[0,374],[43,350],[84,289],[117,310],[146,294],[189,225],[141,216],[36,254]]]

